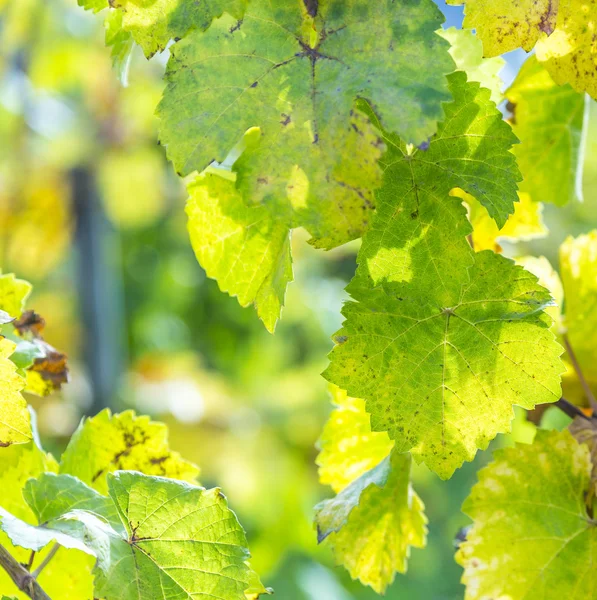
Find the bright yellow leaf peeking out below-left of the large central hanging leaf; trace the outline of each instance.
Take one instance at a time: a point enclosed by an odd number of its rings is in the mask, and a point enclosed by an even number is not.
[[[392,450],[385,432],[372,432],[365,402],[330,386],[335,408],[319,441],[319,480],[338,493],[378,465]]]

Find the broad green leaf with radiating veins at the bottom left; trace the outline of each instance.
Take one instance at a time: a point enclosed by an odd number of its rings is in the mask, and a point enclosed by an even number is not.
[[[105,600],[241,600],[251,585],[245,534],[219,489],[118,472],[108,477],[123,534],[88,520]],[[109,551],[106,549],[109,548]]]

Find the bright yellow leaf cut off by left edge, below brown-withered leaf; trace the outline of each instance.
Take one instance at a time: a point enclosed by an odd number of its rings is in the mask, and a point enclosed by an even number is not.
[[[32,439],[27,402],[21,395],[25,380],[10,360],[16,345],[0,336],[0,447]]]

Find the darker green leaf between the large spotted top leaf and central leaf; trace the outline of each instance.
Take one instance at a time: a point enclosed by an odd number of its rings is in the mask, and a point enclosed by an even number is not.
[[[412,280],[416,261],[429,271],[417,281],[421,295],[437,296],[439,286],[451,297],[467,279],[462,267],[472,263],[472,253],[464,209],[450,191],[458,187],[475,196],[500,227],[513,212],[520,179],[510,152],[516,137],[487,90],[467,83],[462,72],[448,82],[454,101],[444,105],[444,120],[426,149],[412,150],[384,133],[384,180],[359,252],[359,281]]]

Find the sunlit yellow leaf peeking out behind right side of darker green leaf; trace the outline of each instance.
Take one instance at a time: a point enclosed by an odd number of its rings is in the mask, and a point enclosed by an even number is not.
[[[520,241],[545,237],[548,233],[543,223],[543,205],[533,202],[528,194],[519,192],[518,202],[514,205],[514,214],[508,217],[506,224],[498,229],[495,221],[489,216],[485,207],[473,196],[460,189],[451,191],[452,196],[462,198],[469,209],[468,217],[473,232],[471,240],[473,248],[501,252],[499,240]]]

